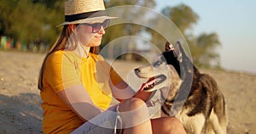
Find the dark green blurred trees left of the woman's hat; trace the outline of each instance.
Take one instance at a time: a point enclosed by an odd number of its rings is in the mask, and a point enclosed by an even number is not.
[[[52,44],[60,31],[55,25],[61,23],[64,12],[60,12],[60,1],[49,2],[0,0],[0,33],[27,46],[35,42]]]

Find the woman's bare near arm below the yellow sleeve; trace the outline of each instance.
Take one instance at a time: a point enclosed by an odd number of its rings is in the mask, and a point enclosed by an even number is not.
[[[92,119],[103,111],[94,105],[82,85],[68,87],[57,94],[84,121]]]

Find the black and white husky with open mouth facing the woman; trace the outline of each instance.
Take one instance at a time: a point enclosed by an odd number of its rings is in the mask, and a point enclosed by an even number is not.
[[[163,76],[163,66],[167,66],[170,77]],[[169,91],[161,90],[162,96],[166,95],[161,106],[162,116],[177,117],[188,134],[226,133],[223,93],[211,75],[203,74],[195,67],[180,42],[174,46],[166,42],[166,50],[158,60],[134,71],[140,78],[159,79],[158,83],[154,83],[155,87],[145,89],[148,92],[160,89],[163,81],[169,81]]]

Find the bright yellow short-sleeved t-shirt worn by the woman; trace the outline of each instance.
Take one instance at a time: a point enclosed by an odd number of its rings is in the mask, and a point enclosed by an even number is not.
[[[108,109],[112,100],[108,87],[109,78],[113,85],[122,81],[99,55],[90,53],[84,59],[68,51],[50,54],[44,66],[44,89],[40,92],[44,110],[44,133],[70,133],[84,123],[56,94],[67,87],[83,84],[93,103],[97,107]]]

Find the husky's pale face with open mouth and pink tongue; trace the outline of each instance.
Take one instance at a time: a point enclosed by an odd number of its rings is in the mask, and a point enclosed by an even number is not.
[[[166,43],[166,51],[161,53],[152,64],[135,69],[135,74],[139,78],[157,79],[154,86],[145,89],[146,91],[151,92],[156,89],[168,87],[164,94],[168,95],[168,99],[175,97],[182,82],[177,73],[180,71],[179,58],[181,55],[179,54],[174,53],[172,44]]]

